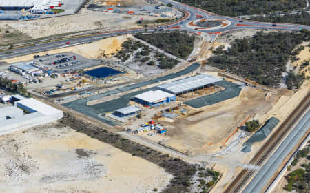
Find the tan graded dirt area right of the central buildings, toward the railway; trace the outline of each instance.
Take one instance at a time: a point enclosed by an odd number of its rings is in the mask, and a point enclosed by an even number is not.
[[[271,101],[265,92],[256,88],[245,88],[240,96],[221,103],[201,108],[203,111],[187,119],[165,123],[173,128],[167,132],[166,145],[189,154],[212,154],[225,145],[225,139],[236,126],[260,111],[267,112]]]

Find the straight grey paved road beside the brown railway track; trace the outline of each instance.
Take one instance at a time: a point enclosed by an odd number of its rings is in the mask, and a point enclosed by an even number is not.
[[[300,119],[298,124],[293,128],[291,133],[287,136],[287,138],[282,141],[279,148],[270,159],[265,163],[264,166],[260,168],[254,179],[245,187],[243,193],[259,193],[264,191],[263,188],[267,183],[271,180],[273,174],[278,170],[282,161],[289,155],[289,153],[293,150],[296,143],[300,141],[302,136],[306,132],[309,132],[310,127],[310,110],[307,111],[306,114]]]

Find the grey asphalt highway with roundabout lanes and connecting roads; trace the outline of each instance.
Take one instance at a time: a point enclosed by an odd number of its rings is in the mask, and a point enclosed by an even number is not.
[[[310,26],[303,26],[303,25],[293,25],[293,24],[285,24],[285,23],[277,23],[276,26],[272,26],[273,23],[260,23],[260,22],[254,22],[254,21],[243,21],[240,23],[240,19],[237,19],[235,17],[225,17],[225,16],[218,16],[216,14],[211,14],[209,12],[206,12],[204,10],[200,10],[199,8],[194,8],[192,6],[187,6],[183,3],[178,3],[175,1],[169,1],[169,0],[160,0],[163,4],[172,3],[174,8],[178,8],[180,10],[183,10],[187,12],[187,17],[176,21],[175,23],[169,24],[167,26],[162,26],[162,28],[172,28],[176,26],[180,26],[180,30],[187,30],[189,32],[205,32],[205,33],[219,33],[219,32],[227,32],[229,30],[238,30],[238,29],[274,29],[274,30],[300,30],[300,28],[310,30]],[[198,18],[196,18],[196,14],[200,14],[203,18],[207,19],[225,19],[227,21],[230,21],[231,24],[229,26],[226,26],[224,28],[220,29],[214,29],[214,30],[194,30],[193,28],[189,28],[187,26],[187,23],[191,21],[196,21]],[[149,32],[152,32],[154,30],[157,30],[157,28],[147,28]],[[99,41],[100,39],[103,39],[105,37],[111,37],[121,34],[136,34],[138,32],[144,32],[144,28],[140,29],[132,29],[132,30],[123,30],[123,31],[116,31],[116,32],[107,32],[103,34],[92,34],[89,37],[79,37],[74,39],[66,39],[61,41],[54,41],[50,43],[41,43],[38,46],[32,45],[27,46],[24,48],[16,48],[11,50],[2,50],[0,51],[0,59],[6,59],[10,57],[17,57],[25,54],[32,54],[36,52],[42,52],[46,50],[53,50],[56,48],[62,48],[63,46],[72,46],[79,43],[90,43],[93,41]],[[169,29],[174,30],[174,29]],[[65,43],[70,41],[70,45],[66,45]]]

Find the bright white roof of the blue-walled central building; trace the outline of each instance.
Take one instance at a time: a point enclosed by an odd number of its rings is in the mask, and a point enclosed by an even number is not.
[[[138,94],[134,96],[137,99],[141,99],[143,101],[147,101],[148,103],[154,103],[156,101],[163,101],[167,99],[167,97],[172,97],[174,94],[170,94],[168,92],[164,92],[162,90],[149,90],[147,92],[143,92],[142,94]]]

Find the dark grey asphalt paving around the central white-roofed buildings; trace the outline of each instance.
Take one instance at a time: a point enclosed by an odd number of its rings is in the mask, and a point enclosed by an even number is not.
[[[127,106],[127,103],[130,101],[130,99],[133,98],[133,96],[137,94],[141,94],[143,92],[147,92],[149,90],[154,90],[155,88],[147,88],[144,90],[138,90],[136,92],[130,92],[128,94],[124,94],[123,96],[119,96],[118,99],[113,99],[111,101],[105,101],[103,103],[98,103],[96,105],[88,106],[87,102],[101,99],[105,96],[110,96],[112,94],[120,94],[121,92],[127,92],[130,90],[134,90],[136,88],[141,88],[145,85],[152,85],[154,83],[158,83],[160,81],[167,81],[169,79],[174,79],[176,77],[180,77],[184,74],[188,74],[189,72],[193,72],[199,67],[198,63],[194,63],[193,65],[189,66],[185,70],[182,70],[180,72],[169,74],[164,77],[159,77],[157,79],[144,81],[141,83],[136,83],[134,85],[127,85],[122,88],[117,88],[115,90],[110,90],[108,92],[104,92],[102,94],[96,94],[94,96],[87,97],[85,99],[78,99],[76,101],[71,101],[68,103],[63,103],[65,107],[68,107],[72,110],[76,110],[77,112],[81,112],[82,114],[85,114],[87,116],[90,116],[94,119],[97,119],[99,121],[102,121],[103,123],[107,123],[109,125],[118,125],[119,123],[116,123],[114,121],[111,121],[110,119],[107,119],[103,116],[106,112],[113,112],[116,109],[124,108]],[[225,90],[217,92],[215,94],[210,94],[207,96],[202,96],[197,99],[193,99],[190,101],[187,101],[186,104],[191,105],[194,108],[200,108],[206,105],[212,105],[214,103],[219,103],[220,101],[225,101],[227,99],[232,99],[240,94],[241,88],[239,85],[235,83],[230,83],[227,81],[220,81],[219,83],[216,83],[217,85],[224,87]]]

